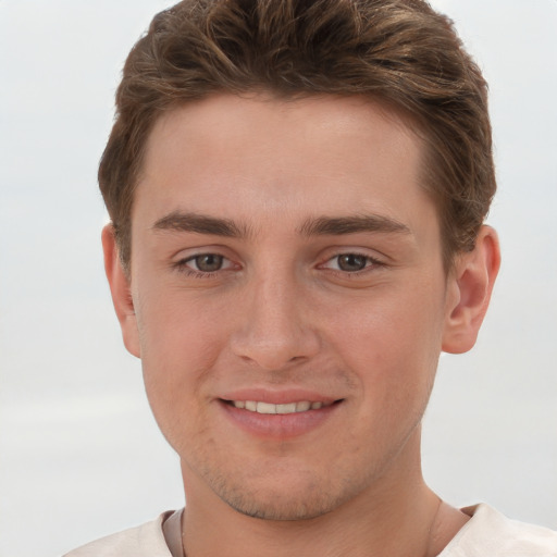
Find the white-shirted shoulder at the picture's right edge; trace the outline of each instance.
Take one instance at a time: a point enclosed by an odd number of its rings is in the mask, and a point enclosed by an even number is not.
[[[557,532],[510,520],[488,505],[462,509],[472,518],[438,557],[556,557]]]

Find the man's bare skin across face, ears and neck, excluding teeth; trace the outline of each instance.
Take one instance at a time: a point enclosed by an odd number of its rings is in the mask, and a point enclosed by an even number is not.
[[[441,350],[475,342],[499,252],[483,227],[444,272],[421,150],[354,97],[219,95],[157,122],[129,276],[110,226],[103,246],[181,457],[189,557],[437,555],[466,522],[423,482],[420,422]],[[310,397],[335,404],[259,420],[225,403]]]

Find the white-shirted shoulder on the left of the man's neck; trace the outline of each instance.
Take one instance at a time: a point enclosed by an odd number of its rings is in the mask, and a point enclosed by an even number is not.
[[[171,515],[172,511],[163,512],[151,522],[101,537],[63,557],[172,557],[162,530]]]

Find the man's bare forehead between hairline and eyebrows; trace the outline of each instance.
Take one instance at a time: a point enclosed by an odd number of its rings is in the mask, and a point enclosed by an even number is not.
[[[156,123],[133,220],[194,211],[257,227],[360,211],[411,226],[429,203],[421,157],[403,119],[362,97],[213,96]]]

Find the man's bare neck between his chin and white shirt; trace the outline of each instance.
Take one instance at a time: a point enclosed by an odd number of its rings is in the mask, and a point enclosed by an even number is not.
[[[419,454],[419,436],[404,451],[414,451],[416,443]],[[434,557],[466,519],[441,505],[425,485],[419,465],[408,467],[408,460],[399,460],[401,469],[388,470],[357,497],[326,515],[300,521],[247,517],[189,474],[182,525],[185,554],[245,557],[248,547],[250,555],[260,557]]]

